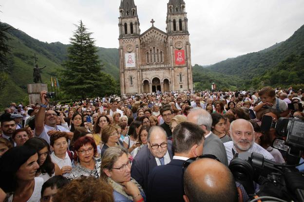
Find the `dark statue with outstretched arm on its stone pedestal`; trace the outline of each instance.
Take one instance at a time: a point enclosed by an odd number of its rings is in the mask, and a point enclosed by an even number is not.
[[[33,68],[34,83],[27,85],[27,90],[29,94],[29,104],[31,105],[39,103],[41,105],[40,92],[47,91],[47,84],[42,83],[41,70],[44,69],[46,66],[39,68],[37,64],[38,58],[36,57],[36,54],[33,58],[35,59],[35,67]]]

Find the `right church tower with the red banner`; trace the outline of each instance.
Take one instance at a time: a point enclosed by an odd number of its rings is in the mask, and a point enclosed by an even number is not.
[[[166,31],[171,53],[174,90],[193,90],[188,18],[184,0],[169,0]]]

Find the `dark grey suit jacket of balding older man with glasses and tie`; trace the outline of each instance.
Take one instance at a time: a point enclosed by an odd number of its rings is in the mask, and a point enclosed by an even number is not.
[[[170,159],[173,158],[172,141],[168,140],[168,152]],[[224,148],[225,149],[225,148]],[[226,151],[226,150],[225,150]],[[155,157],[150,152],[148,145],[142,147],[133,159],[131,176],[140,184],[147,196],[148,176],[153,168],[157,166]]]

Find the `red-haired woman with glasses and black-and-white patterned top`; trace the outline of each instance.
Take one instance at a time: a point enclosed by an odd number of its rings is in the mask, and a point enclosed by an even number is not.
[[[91,137],[80,137],[74,144],[75,153],[78,157],[78,164],[72,169],[68,176],[69,179],[75,179],[80,176],[100,176],[100,159],[95,158],[97,146]]]

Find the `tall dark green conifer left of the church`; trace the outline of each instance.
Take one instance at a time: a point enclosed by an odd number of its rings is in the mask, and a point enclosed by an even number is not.
[[[61,87],[72,97],[94,97],[104,94],[108,88],[116,86],[112,76],[100,72],[102,65],[90,32],[80,20],[74,36],[70,38],[67,61],[61,71]]]

